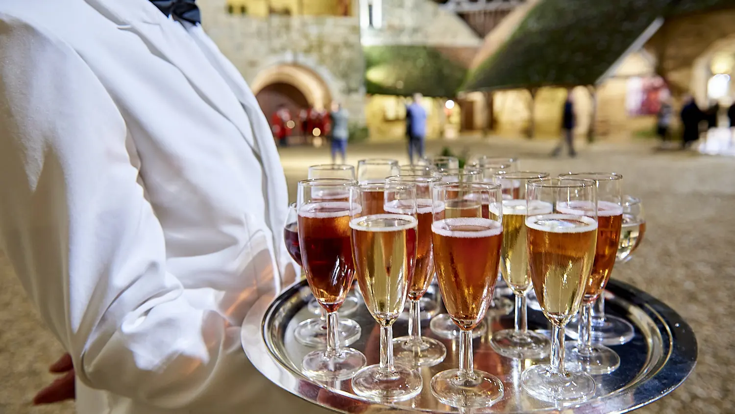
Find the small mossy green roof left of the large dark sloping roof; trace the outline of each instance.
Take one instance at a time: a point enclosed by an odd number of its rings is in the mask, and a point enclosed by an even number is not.
[[[429,46],[365,46],[365,88],[381,95],[451,98],[467,69]]]

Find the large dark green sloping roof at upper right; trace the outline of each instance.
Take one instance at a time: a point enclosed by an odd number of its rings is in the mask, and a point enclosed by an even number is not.
[[[735,0],[544,0],[462,89],[593,85],[659,16],[728,6]]]

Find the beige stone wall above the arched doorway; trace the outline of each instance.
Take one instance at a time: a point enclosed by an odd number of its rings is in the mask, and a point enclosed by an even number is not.
[[[279,65],[295,65],[323,80],[325,95],[362,120],[365,63],[357,17],[268,18],[226,13],[226,0],[197,1],[202,24],[245,80]]]

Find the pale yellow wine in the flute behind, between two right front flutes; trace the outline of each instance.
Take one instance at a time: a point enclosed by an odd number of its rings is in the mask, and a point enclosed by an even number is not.
[[[551,213],[551,203],[534,201],[536,214]],[[490,209],[490,218],[497,210]],[[523,295],[531,288],[526,249],[526,200],[503,200],[503,249],[501,249],[501,274],[509,288]]]

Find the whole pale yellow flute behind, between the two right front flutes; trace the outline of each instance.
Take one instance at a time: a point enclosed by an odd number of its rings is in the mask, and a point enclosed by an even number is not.
[[[548,173],[533,171],[512,171],[495,174],[495,182],[503,188],[503,248],[501,249],[501,274],[515,296],[514,329],[493,332],[490,345],[498,354],[510,358],[540,358],[548,354],[549,340],[544,335],[528,331],[526,314],[526,294],[531,290],[531,276],[528,274],[528,253],[526,246],[526,182],[548,177]],[[506,190],[518,189],[516,199],[506,199]],[[512,195],[516,195],[513,194]],[[523,197],[519,199],[518,197]],[[551,204],[534,204],[536,214],[549,214]],[[541,206],[546,205],[546,211]],[[491,211],[490,213],[495,213]]]

